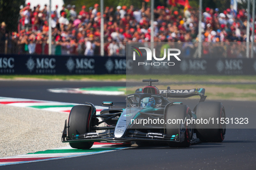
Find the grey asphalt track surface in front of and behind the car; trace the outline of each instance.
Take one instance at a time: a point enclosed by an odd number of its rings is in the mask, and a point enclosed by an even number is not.
[[[98,96],[48,92],[49,88],[125,86],[125,82],[0,81],[0,96],[83,104],[124,101],[124,96]],[[192,87],[193,88],[193,87]],[[221,101],[227,116],[256,113],[255,101]],[[184,104],[192,107],[195,100]],[[102,154],[1,166],[0,169],[201,169],[255,170],[256,129],[227,129],[222,143],[199,143],[189,148],[141,146]]]

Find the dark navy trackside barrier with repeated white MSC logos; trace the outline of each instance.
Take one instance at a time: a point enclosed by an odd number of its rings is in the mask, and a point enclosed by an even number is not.
[[[136,66],[139,69],[129,63],[132,60],[126,62],[126,57],[2,54],[0,75],[126,74],[126,70],[129,74],[256,75],[256,59],[247,58],[181,58],[174,66]]]

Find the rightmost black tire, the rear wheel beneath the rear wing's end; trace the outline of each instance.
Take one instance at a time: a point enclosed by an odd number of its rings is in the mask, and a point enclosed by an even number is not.
[[[197,119],[210,120],[209,124],[196,124],[197,138],[202,142],[222,142],[226,135],[226,124],[221,124],[220,119],[226,119],[222,103],[216,101],[200,102],[196,108]],[[214,124],[212,123],[214,120]],[[219,119],[219,124],[217,120]]]

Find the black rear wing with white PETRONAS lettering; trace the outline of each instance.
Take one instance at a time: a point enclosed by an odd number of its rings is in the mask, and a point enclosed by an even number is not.
[[[162,96],[166,98],[189,98],[191,96],[200,96],[200,101],[204,101],[207,96],[204,96],[204,88],[193,88],[190,90],[159,90]]]

